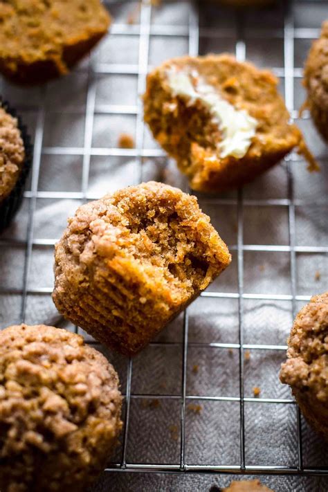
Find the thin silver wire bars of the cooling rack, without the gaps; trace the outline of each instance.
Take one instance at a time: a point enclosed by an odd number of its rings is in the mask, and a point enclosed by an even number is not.
[[[112,2],[115,3],[115,2]],[[117,3],[117,2],[116,2]],[[149,66],[149,42],[151,37],[188,37],[189,54],[197,55],[199,53],[199,37],[224,37],[231,36],[230,28],[202,28],[199,26],[199,8],[201,5],[197,2],[188,1],[189,7],[189,24],[188,26],[161,26],[152,24],[152,6],[148,1],[143,1],[140,4],[140,22],[128,26],[127,24],[113,24],[111,33],[116,36],[138,36],[139,53],[138,64],[104,64],[99,63],[91,57],[88,66],[82,66],[79,71],[86,72],[88,78],[88,89],[86,94],[85,120],[84,120],[84,142],[82,147],[62,147],[62,146],[44,146],[44,124],[46,118],[46,95],[47,87],[39,89],[40,102],[37,106],[29,104],[21,104],[19,109],[25,111],[37,110],[37,120],[35,127],[34,141],[34,158],[33,170],[31,177],[30,190],[26,191],[25,197],[28,201],[28,223],[26,231],[26,239],[12,239],[3,235],[0,238],[0,248],[11,248],[15,245],[25,247],[24,275],[21,289],[3,288],[0,286],[0,294],[18,294],[21,295],[21,309],[19,319],[24,322],[26,320],[26,309],[28,295],[49,295],[51,288],[48,287],[30,287],[29,278],[31,272],[31,261],[33,248],[35,246],[41,248],[52,248],[55,244],[54,239],[35,238],[35,211],[37,208],[38,199],[72,199],[78,203],[89,199],[99,198],[95,194],[88,192],[89,172],[91,165],[91,157],[93,156],[121,156],[133,158],[138,166],[138,181],[143,179],[143,159],[165,157],[161,149],[145,148],[145,135],[143,126],[142,104],[140,98],[136,105],[113,105],[113,104],[97,104],[96,103],[96,81],[100,74],[130,74],[137,77],[138,94],[143,93],[145,89],[145,75],[151,68]],[[300,2],[295,2],[300,3]],[[284,97],[286,106],[291,111],[293,118],[297,118],[298,111],[294,105],[294,80],[302,77],[302,68],[294,66],[294,42],[295,39],[315,39],[319,34],[318,28],[295,28],[293,24],[293,12],[295,3],[290,3],[285,8],[284,26],[283,28],[255,28],[252,35],[258,39],[281,39],[284,49],[284,66],[282,68],[273,67],[274,73],[278,77],[284,78]],[[309,3],[309,2],[308,2]],[[320,3],[320,2],[317,2]],[[321,2],[324,3],[323,1]],[[109,9],[111,2],[109,2]],[[235,15],[235,30],[233,37],[235,41],[235,54],[238,60],[244,60],[246,57],[246,38],[244,33],[244,19],[241,12],[233,11]],[[203,53],[202,53],[203,54]],[[57,109],[53,109],[53,112]],[[59,110],[58,110],[59,111]],[[76,113],[84,113],[84,108],[74,107],[71,111]],[[135,149],[119,149],[116,147],[94,147],[93,125],[96,114],[129,114],[136,117],[136,148]],[[304,119],[309,118],[308,113],[304,113]],[[42,163],[42,156],[55,155],[67,156],[76,155],[82,156],[82,187],[80,192],[62,192],[62,191],[43,191],[39,190],[39,174]],[[207,472],[207,473],[234,473],[234,474],[295,474],[295,475],[328,475],[327,466],[303,466],[302,457],[302,425],[300,412],[297,412],[297,465],[296,466],[254,466],[248,465],[245,456],[245,403],[262,404],[281,404],[294,406],[293,399],[277,399],[277,398],[250,398],[244,395],[244,351],[245,350],[272,350],[285,351],[285,345],[259,345],[244,343],[244,301],[245,300],[270,300],[270,301],[290,301],[292,303],[293,316],[298,311],[298,302],[308,301],[309,295],[298,295],[296,289],[297,282],[297,253],[322,253],[328,255],[328,245],[325,246],[298,246],[295,242],[295,206],[307,205],[302,199],[295,199],[293,192],[293,170],[291,163],[299,158],[292,154],[286,158],[286,175],[288,180],[288,196],[280,199],[245,199],[243,190],[237,192],[237,197],[233,198],[212,198],[203,199],[201,203],[209,202],[215,206],[233,205],[237,207],[237,244],[229,245],[230,250],[235,253],[237,261],[237,292],[225,291],[206,291],[202,293],[203,298],[217,299],[235,299],[238,302],[238,322],[239,322],[239,340],[238,343],[197,343],[188,342],[188,311],[185,311],[183,317],[183,347],[182,347],[182,376],[181,376],[181,394],[134,394],[131,391],[131,381],[133,373],[133,361],[127,363],[127,384],[125,391],[125,427],[122,437],[121,459],[112,464],[107,471],[140,471],[140,472]],[[311,204],[317,206],[327,206],[326,197],[317,198],[311,201]],[[261,206],[261,207],[283,207],[288,208],[288,225],[289,225],[289,242],[286,245],[274,244],[244,244],[244,207],[245,206]],[[244,289],[244,254],[245,252],[284,252],[289,254],[290,260],[290,294],[260,294],[248,293]],[[6,319],[3,322],[6,326]],[[93,342],[91,342],[93,343]],[[152,346],[165,345],[165,342],[154,342]],[[167,345],[174,345],[170,342]],[[176,343],[176,345],[179,345]],[[215,347],[226,349],[237,349],[239,351],[239,396],[238,397],[214,397],[188,394],[187,391],[187,362],[188,349],[190,347]],[[131,401],[133,399],[172,399],[180,403],[180,452],[179,462],[174,464],[146,464],[142,462],[131,463],[127,459],[127,445],[129,441],[129,421],[131,413]],[[239,444],[240,444],[240,460],[239,463],[228,465],[211,465],[211,464],[188,464],[188,459],[185,457],[185,412],[189,401],[235,401],[239,402]]]

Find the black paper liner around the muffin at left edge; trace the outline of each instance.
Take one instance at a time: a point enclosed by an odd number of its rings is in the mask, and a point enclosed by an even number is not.
[[[0,107],[2,107],[7,113],[9,113],[14,118],[17,118],[17,126],[19,131],[21,132],[21,138],[24,143],[25,149],[25,158],[24,164],[21,167],[21,172],[19,174],[19,178],[15,187],[12,188],[12,191],[2,201],[0,201],[0,233],[3,229],[6,229],[12,219],[14,218],[17,210],[21,206],[21,202],[23,201],[23,194],[26,179],[28,177],[28,173],[30,172],[30,167],[32,166],[32,158],[33,158],[33,149],[30,141],[30,136],[28,135],[26,126],[23,124],[21,117],[17,115],[17,112],[14,108],[10,107],[10,104],[7,101],[3,101],[0,96]]]

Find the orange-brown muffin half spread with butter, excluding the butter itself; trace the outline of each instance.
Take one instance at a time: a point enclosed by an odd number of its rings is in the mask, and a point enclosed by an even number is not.
[[[196,70],[227,102],[244,109],[257,120],[256,134],[245,156],[221,158],[222,140],[217,123],[199,102],[188,104],[172,94],[166,72]],[[149,73],[143,96],[145,121],[154,138],[173,156],[187,174],[190,187],[203,192],[221,192],[251,181],[294,147],[304,152],[302,134],[289,123],[289,112],[277,91],[277,78],[232,55],[180,57],[168,60]]]

